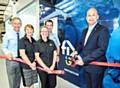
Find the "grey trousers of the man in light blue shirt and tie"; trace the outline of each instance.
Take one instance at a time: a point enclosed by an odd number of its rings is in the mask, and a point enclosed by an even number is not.
[[[20,88],[21,70],[19,63],[6,60],[6,69],[10,88]]]

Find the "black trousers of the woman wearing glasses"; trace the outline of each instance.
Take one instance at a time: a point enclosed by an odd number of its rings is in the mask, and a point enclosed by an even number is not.
[[[41,80],[41,88],[55,88],[56,87],[56,75],[47,74],[46,72],[39,71],[39,77]]]

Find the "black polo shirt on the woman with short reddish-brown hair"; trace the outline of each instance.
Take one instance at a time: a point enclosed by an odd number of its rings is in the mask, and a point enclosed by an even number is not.
[[[26,36],[24,36],[19,41],[19,49],[25,49],[25,53],[31,62],[33,62],[35,59],[35,54],[34,54],[35,42],[36,41],[32,38],[32,43],[31,43]],[[30,67],[26,64],[21,64],[21,66],[23,68],[30,69]]]

